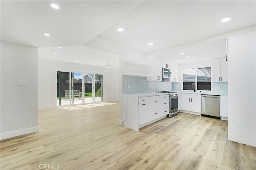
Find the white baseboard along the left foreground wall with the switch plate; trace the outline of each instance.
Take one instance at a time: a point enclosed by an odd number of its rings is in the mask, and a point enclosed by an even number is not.
[[[6,139],[6,138],[12,138],[15,136],[20,136],[23,134],[29,134],[29,133],[33,133],[33,132],[38,132],[39,131],[39,127],[30,127],[30,128],[24,128],[24,129],[19,129],[19,130],[13,130],[10,132],[4,132],[0,134],[0,140],[2,139]]]

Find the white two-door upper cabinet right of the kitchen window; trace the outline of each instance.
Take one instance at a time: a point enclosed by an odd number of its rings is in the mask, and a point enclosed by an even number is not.
[[[226,58],[212,60],[212,81],[228,82],[228,61]]]

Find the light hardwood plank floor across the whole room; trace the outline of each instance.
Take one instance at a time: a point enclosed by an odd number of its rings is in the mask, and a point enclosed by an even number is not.
[[[1,140],[1,169],[256,170],[256,147],[227,140],[227,121],[178,113],[136,132],[112,103],[39,111],[39,132]]]

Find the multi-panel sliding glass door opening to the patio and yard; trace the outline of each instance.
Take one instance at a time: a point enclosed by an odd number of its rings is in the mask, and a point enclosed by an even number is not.
[[[57,106],[103,101],[100,74],[57,71]]]

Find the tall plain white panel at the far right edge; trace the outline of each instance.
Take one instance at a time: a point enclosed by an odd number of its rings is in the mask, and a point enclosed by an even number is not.
[[[256,146],[256,33],[228,38],[228,140]]]

